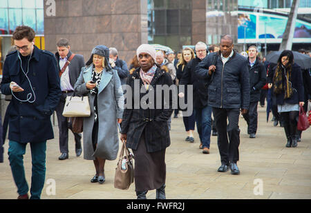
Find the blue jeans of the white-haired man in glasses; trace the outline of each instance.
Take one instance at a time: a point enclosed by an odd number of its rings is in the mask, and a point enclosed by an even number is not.
[[[211,144],[211,106],[195,109],[194,114],[202,148],[209,148]]]

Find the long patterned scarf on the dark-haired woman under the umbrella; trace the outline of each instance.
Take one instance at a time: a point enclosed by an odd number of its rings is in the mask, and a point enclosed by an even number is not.
[[[284,73],[283,73],[284,70]],[[292,82],[290,82],[292,76],[292,65],[283,67],[278,65],[274,74],[274,93],[281,94],[284,92],[284,99],[292,97]],[[285,81],[284,81],[285,77]]]

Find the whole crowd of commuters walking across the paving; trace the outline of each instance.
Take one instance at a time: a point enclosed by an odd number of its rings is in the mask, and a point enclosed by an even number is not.
[[[247,122],[249,138],[254,139],[258,102],[265,105],[269,90],[274,126],[279,122],[283,126],[285,146],[294,148],[301,141],[297,120],[299,107],[306,111],[311,99],[310,70],[294,63],[290,50],[284,50],[277,63],[270,63],[258,57],[255,45],[249,46],[246,54],[238,53],[232,36],[226,34],[219,45],[208,47],[200,41],[194,49],[186,47],[179,52],[142,44],[127,65],[113,47],[96,45],[85,63],[82,55],[71,51],[68,39],[59,39],[53,54],[39,50],[34,38],[32,28],[16,28],[16,50],[6,56],[1,81],[2,94],[12,94],[6,112],[8,124],[3,125],[9,127],[8,156],[18,199],[28,199],[23,169],[27,143],[32,154],[30,199],[41,196],[46,141],[54,138],[50,121],[53,111],[59,128],[59,160],[69,158],[68,130],[73,132],[72,123],[62,115],[68,96],[87,96],[89,100],[91,116],[84,117],[83,145],[82,134],[73,135],[76,156],[83,152],[84,159],[94,163],[91,183],[104,183],[104,165],[106,160],[117,158],[121,140],[135,156],[138,199],[146,199],[149,190],[156,190],[156,199],[165,199],[165,154],[171,144],[171,117],[177,119],[180,111],[185,141],[194,142],[196,126],[198,148],[203,154],[213,152],[209,150],[211,136],[217,136],[218,172],[241,173],[237,165],[240,114]],[[165,87],[170,88],[168,96],[163,92]],[[139,90],[138,96],[135,90]],[[156,95],[154,99],[150,98],[152,94]]]

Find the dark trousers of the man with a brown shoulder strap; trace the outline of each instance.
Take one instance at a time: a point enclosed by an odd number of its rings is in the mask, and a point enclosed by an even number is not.
[[[71,128],[69,128],[67,118],[64,117],[62,114],[66,103],[66,97],[72,94],[73,92],[62,93],[62,97],[56,108],[56,115],[59,129],[59,150],[62,153],[64,152],[68,153],[68,129],[71,130]],[[73,132],[73,130],[71,130],[71,132]],[[73,135],[75,136],[75,150],[81,149],[81,137],[82,137],[81,134],[73,132]]]

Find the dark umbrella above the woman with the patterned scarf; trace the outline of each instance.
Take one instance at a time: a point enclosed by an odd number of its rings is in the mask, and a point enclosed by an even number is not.
[[[281,52],[283,51],[274,51],[270,54],[267,54],[267,61],[278,63]],[[296,51],[292,51],[292,53],[294,54],[294,63],[298,64],[301,69],[305,70],[311,68],[311,57]]]

